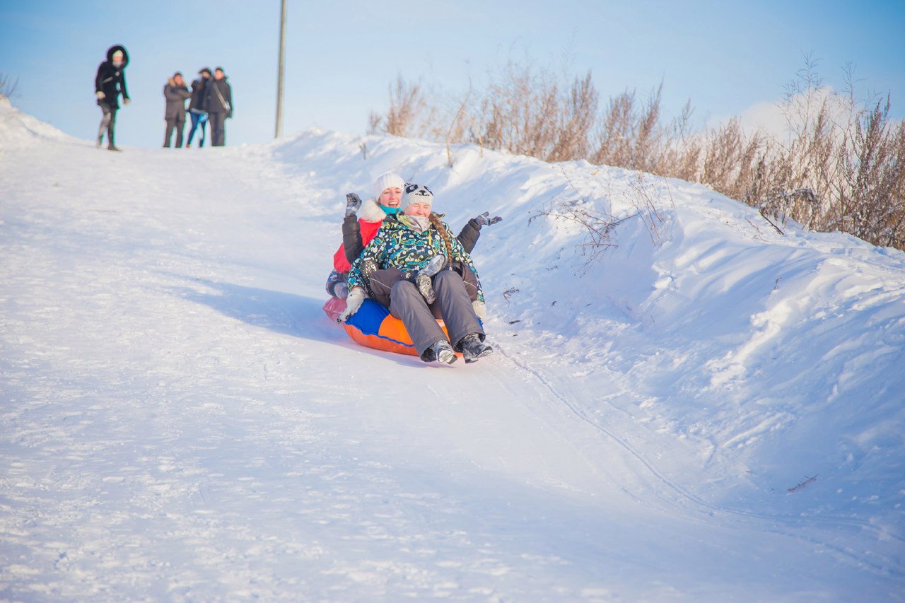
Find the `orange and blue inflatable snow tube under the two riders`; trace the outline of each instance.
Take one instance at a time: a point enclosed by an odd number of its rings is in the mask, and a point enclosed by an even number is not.
[[[334,322],[344,310],[346,310],[346,300],[331,297],[324,304],[324,311]],[[446,333],[443,321],[437,321],[437,324]],[[361,308],[343,323],[343,328],[352,340],[368,348],[419,356],[402,321],[390,315],[390,311],[374,300],[365,300],[361,304]],[[449,333],[446,336],[449,337]]]

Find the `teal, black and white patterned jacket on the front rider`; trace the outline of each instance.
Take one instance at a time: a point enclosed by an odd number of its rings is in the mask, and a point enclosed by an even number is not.
[[[442,214],[436,214],[443,218]],[[365,247],[365,251],[352,263],[348,273],[349,291],[356,287],[365,287],[361,276],[361,263],[367,258],[373,259],[380,269],[398,268],[402,272],[416,271],[424,268],[428,261],[436,254],[448,255],[443,236],[433,224],[423,233],[414,231],[409,226],[400,222],[400,215],[387,215],[384,224],[377,230],[377,234]],[[442,222],[452,242],[452,258],[447,258],[451,263],[462,263],[472,269],[478,281],[478,300],[484,301],[484,292],[481,289],[481,279],[478,271],[472,263],[472,257],[465,251],[462,244],[452,235],[450,227]],[[367,289],[367,288],[366,288]]]

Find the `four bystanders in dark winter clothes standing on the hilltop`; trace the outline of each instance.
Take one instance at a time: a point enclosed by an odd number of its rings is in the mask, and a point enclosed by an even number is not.
[[[98,66],[94,78],[94,94],[101,110],[100,127],[98,128],[98,147],[103,144],[107,135],[107,148],[118,151],[114,141],[116,130],[116,112],[119,110],[119,96],[122,103],[130,102],[126,89],[126,66],[129,64],[129,53],[122,45],[111,46],[107,50],[107,60]],[[198,72],[192,81],[189,91],[182,73],[176,72],[164,85],[166,110],[164,120],[167,122],[164,134],[164,147],[169,148],[173,133],[176,132],[176,148],[182,147],[183,129],[186,125],[186,113],[192,120],[192,128],[188,132],[186,148],[192,145],[195,131],[201,129],[198,147],[205,146],[205,127],[211,124],[211,146],[223,147],[226,143],[226,120],[233,117],[233,89],[227,81],[223,67],[214,72],[207,67]],[[189,101],[186,110],[186,100]]]

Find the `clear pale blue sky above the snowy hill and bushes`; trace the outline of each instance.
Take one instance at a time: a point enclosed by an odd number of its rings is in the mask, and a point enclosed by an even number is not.
[[[364,133],[407,80],[463,92],[507,62],[592,72],[605,100],[663,82],[667,117],[691,100],[700,123],[779,101],[805,65],[841,89],[852,63],[862,96],[891,92],[905,117],[905,0],[605,2],[594,0],[288,0],[283,134],[310,127]],[[93,80],[107,48],[125,45],[132,104],[121,145],[163,142],[163,85],[222,65],[233,85],[227,145],[273,138],[279,0],[128,3],[4,0],[0,73],[14,106],[82,139],[100,121]]]

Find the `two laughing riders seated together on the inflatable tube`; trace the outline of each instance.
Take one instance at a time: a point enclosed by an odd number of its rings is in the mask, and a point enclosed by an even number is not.
[[[452,364],[456,352],[467,363],[490,355],[481,323],[484,295],[470,254],[481,226],[502,218],[484,212],[453,238],[443,215],[433,212],[428,187],[387,172],[377,177],[374,193],[364,202],[354,193],[346,196],[343,242],[327,280],[327,292],[346,300],[338,321],[370,298],[403,322],[424,362]]]

